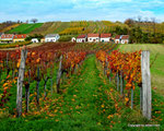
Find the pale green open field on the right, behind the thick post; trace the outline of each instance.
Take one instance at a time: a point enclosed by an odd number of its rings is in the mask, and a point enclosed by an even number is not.
[[[119,49],[122,51],[150,50],[152,87],[164,95],[164,45],[120,45]]]

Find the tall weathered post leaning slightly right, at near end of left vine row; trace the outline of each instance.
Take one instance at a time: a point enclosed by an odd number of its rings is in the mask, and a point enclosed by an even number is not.
[[[17,95],[16,95],[17,117],[21,117],[22,115],[22,87],[23,87],[23,81],[24,81],[26,57],[27,57],[27,50],[23,49],[21,51],[21,63],[20,63],[19,78],[17,78]]]

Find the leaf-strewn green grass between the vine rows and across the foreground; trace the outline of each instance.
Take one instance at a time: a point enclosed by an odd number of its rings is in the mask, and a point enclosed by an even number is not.
[[[55,74],[56,75],[56,74]],[[56,78],[54,78],[56,80]],[[31,90],[35,90],[35,84]],[[48,90],[49,90],[48,82]],[[15,94],[16,90],[12,88]],[[40,92],[43,82],[40,82]],[[81,68],[70,79],[67,79],[61,85],[62,94],[54,94],[48,99],[40,100],[42,108],[45,108],[40,115],[27,115],[25,118],[12,118],[9,112],[0,117],[0,129],[3,130],[54,130],[54,131],[104,131],[104,130],[126,130],[126,131],[155,131],[160,128],[129,128],[128,124],[138,123],[157,123],[156,121],[145,120],[139,109],[131,110],[124,105],[124,102],[116,92],[115,86],[109,84],[107,78],[103,75],[102,64],[96,61],[95,56],[89,56]],[[32,93],[32,92],[31,92]],[[159,105],[164,99],[153,94],[153,115],[155,110],[161,110]],[[15,99],[11,96],[10,114],[15,106]],[[51,100],[50,100],[51,99]],[[156,102],[155,102],[156,99]],[[33,100],[33,99],[32,99]],[[32,102],[31,102],[32,103]],[[31,104],[32,105],[32,104]],[[159,105],[159,106],[157,106]],[[31,108],[31,110],[33,110]],[[52,114],[52,117],[48,115]],[[159,114],[157,114],[159,115]],[[155,117],[157,117],[155,115]],[[163,117],[164,118],[164,117]],[[162,124],[163,121],[159,122]],[[161,128],[162,130],[162,128]]]

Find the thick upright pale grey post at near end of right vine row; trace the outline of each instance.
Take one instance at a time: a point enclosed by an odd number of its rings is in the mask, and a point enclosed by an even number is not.
[[[145,118],[150,120],[152,111],[150,51],[142,51],[141,73],[142,73],[142,114]]]

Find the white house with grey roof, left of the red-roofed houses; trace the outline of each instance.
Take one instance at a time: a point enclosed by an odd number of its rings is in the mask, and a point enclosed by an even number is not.
[[[48,34],[45,36],[45,43],[56,43],[60,38],[59,34]]]

